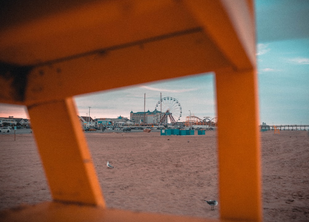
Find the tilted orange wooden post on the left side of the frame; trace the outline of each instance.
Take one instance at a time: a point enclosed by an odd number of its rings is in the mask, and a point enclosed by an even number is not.
[[[72,97],[28,106],[54,200],[105,206]]]

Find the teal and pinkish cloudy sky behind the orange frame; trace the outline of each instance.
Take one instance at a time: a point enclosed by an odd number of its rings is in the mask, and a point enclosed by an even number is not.
[[[256,58],[260,124],[309,125],[309,1],[257,0]],[[75,96],[77,115],[128,117],[153,111],[162,98],[173,97],[182,108],[180,121],[195,115],[217,117],[214,73],[130,88]],[[86,114],[88,113],[88,114]],[[0,104],[0,117],[29,118],[24,106]]]

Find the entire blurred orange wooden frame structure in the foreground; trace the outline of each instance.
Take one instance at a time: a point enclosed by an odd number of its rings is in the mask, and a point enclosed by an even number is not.
[[[25,2],[1,3],[0,102],[27,106],[53,201],[9,211],[5,221],[207,220],[106,208],[73,96],[210,71],[220,220],[262,220],[251,0]],[[59,116],[72,130],[40,124]],[[233,122],[254,129],[235,136]]]

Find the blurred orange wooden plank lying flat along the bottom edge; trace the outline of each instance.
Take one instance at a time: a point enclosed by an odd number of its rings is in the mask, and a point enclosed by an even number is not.
[[[145,212],[132,212],[103,207],[63,203],[40,203],[36,206],[21,206],[18,210],[3,211],[1,221],[59,221],[59,222],[218,222],[217,219],[205,219],[179,215],[163,215]],[[229,222],[229,221],[225,221]],[[235,222],[235,221],[234,221]]]

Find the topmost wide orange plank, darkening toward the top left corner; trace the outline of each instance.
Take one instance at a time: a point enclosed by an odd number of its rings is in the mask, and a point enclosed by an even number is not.
[[[2,62],[36,65],[198,27],[181,1],[28,2],[28,16],[14,2],[1,11]]]

